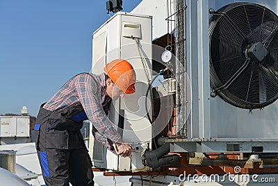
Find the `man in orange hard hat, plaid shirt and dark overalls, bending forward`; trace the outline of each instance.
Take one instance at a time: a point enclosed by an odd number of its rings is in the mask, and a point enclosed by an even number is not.
[[[122,157],[131,154],[131,145],[122,141],[106,114],[111,100],[136,91],[136,73],[122,59],[108,63],[104,72],[72,77],[40,107],[36,147],[47,185],[94,185],[92,162],[80,132],[84,120],[92,122],[95,139],[109,150]]]

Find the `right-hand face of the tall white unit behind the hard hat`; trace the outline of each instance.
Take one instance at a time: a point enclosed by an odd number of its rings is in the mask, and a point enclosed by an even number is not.
[[[141,24],[142,37],[138,43],[133,38],[121,37],[121,58],[127,59],[136,71],[136,93],[126,95],[121,101],[124,109],[123,139],[128,143],[150,141],[152,125],[150,125],[145,110],[145,94],[148,82],[152,80],[152,17],[122,16],[122,22],[137,22]],[[145,63],[145,67],[143,63]],[[150,95],[150,94],[149,94]],[[149,96],[150,100],[150,96]],[[150,105],[149,105],[150,107]],[[149,112],[152,116],[151,112]]]

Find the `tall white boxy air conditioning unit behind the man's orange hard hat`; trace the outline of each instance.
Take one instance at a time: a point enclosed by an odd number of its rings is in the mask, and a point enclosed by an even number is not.
[[[136,71],[136,93],[113,101],[108,117],[122,139],[140,150],[152,147],[152,125],[147,119],[145,107],[140,107],[142,103],[145,104],[148,82],[152,80],[151,44],[152,16],[123,12],[116,13],[100,26],[92,39],[92,73],[101,74],[104,66],[113,59],[129,61]],[[149,114],[152,114],[152,109],[149,109]],[[96,150],[101,150],[99,145],[91,148],[90,155],[95,157]],[[122,158],[104,149],[103,159],[103,163],[95,161],[94,165],[125,171],[142,166],[140,155],[136,153],[132,153],[132,157]]]

